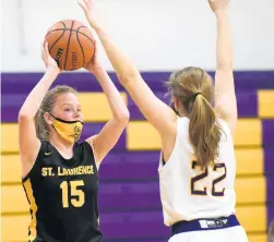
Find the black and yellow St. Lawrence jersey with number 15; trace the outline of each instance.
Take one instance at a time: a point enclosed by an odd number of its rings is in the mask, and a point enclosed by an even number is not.
[[[29,147],[31,148],[31,147]],[[46,141],[23,186],[31,206],[28,241],[97,242],[98,172],[88,143],[75,143],[64,159]]]

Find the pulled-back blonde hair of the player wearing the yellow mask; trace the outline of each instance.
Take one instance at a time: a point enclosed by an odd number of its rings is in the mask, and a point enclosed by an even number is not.
[[[39,140],[48,140],[49,136],[49,130],[44,119],[44,113],[45,112],[51,113],[57,97],[67,93],[76,94],[78,92],[70,86],[62,85],[62,86],[56,86],[52,89],[48,90],[46,96],[44,97],[39,110],[35,114],[34,119],[36,135]]]

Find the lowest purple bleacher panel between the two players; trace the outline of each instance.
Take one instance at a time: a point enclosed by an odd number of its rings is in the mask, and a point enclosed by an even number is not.
[[[170,228],[164,226],[162,210],[119,214],[102,214],[100,229],[109,238],[131,239],[167,237]],[[163,240],[167,241],[167,240]]]

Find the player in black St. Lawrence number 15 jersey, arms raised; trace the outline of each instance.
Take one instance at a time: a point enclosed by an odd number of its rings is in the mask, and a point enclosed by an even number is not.
[[[127,126],[129,111],[96,51],[86,69],[103,87],[112,118],[97,135],[78,143],[83,116],[75,90],[69,86],[48,90],[60,70],[48,44],[41,47],[41,57],[47,72],[19,113],[23,186],[32,216],[28,241],[97,242],[103,238],[98,167]]]

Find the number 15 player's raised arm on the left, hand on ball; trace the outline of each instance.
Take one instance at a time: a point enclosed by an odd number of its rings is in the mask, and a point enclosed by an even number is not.
[[[41,47],[41,58],[47,66],[47,72],[27,96],[19,112],[19,144],[23,176],[32,169],[40,148],[40,141],[36,136],[35,130],[35,114],[47,90],[60,73],[56,61],[48,52],[47,43],[45,47]]]

